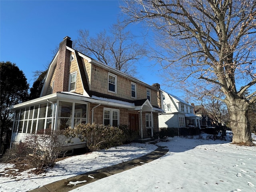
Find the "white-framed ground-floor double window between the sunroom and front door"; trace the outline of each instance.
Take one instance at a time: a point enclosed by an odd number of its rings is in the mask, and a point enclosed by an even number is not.
[[[119,109],[105,108],[103,109],[103,124],[111,126],[119,126]]]

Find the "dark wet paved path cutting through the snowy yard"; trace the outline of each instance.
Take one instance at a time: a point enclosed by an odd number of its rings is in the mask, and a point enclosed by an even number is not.
[[[71,191],[75,188],[78,188],[80,186],[86,185],[88,183],[97,181],[99,179],[114,175],[116,173],[123,172],[125,170],[129,170],[131,168],[134,168],[136,166],[143,165],[145,163],[149,163],[153,160],[156,160],[162,156],[164,156],[167,152],[168,149],[164,149],[165,147],[158,146],[156,150],[153,152],[146,154],[144,156],[141,156],[139,158],[126,161],[120,164],[116,164],[113,166],[105,167],[102,169],[98,169],[95,171],[91,172],[86,172],[85,174],[74,176],[68,179],[63,179],[60,181],[56,181],[54,183],[50,183],[47,185],[44,185],[40,188],[36,188],[34,190],[31,190],[30,192],[68,192]],[[80,184],[76,184],[76,186],[68,185],[69,182],[76,182],[76,181],[85,181]]]

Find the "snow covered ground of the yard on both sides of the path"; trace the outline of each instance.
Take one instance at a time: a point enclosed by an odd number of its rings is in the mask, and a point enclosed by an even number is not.
[[[253,136],[256,140],[256,136]],[[198,136],[168,140],[157,144],[169,149],[165,156],[72,192],[256,191],[256,147],[237,146],[222,140],[198,139]],[[25,192],[57,180],[138,158],[156,148],[151,144],[132,143],[66,158],[45,174],[24,172],[15,178],[0,176],[0,192]],[[12,166],[0,164],[0,172]]]

